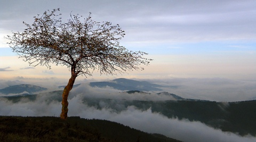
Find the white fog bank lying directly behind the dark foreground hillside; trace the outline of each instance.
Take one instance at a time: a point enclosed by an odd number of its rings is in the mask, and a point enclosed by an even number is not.
[[[86,89],[87,90],[87,89]],[[74,92],[73,92],[74,93]],[[89,92],[86,92],[89,93]],[[91,92],[93,93],[93,92]],[[97,93],[96,93],[97,94]],[[94,95],[94,94],[91,94]],[[0,99],[1,116],[59,116],[60,102],[46,101],[51,94],[38,96],[35,102],[22,100],[11,103]],[[81,118],[105,119],[122,123],[135,129],[150,133],[159,133],[182,141],[255,141],[255,137],[241,137],[232,133],[210,128],[201,122],[188,120],[169,119],[158,113],[137,110],[134,106],[117,113],[111,109],[97,110],[83,103],[83,94],[69,97],[69,116]]]

